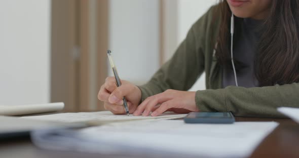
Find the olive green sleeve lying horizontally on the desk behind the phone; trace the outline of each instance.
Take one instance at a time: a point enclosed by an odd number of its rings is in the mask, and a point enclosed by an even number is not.
[[[231,111],[235,116],[285,117],[277,107],[299,107],[299,84],[225,89],[196,92],[201,111]]]

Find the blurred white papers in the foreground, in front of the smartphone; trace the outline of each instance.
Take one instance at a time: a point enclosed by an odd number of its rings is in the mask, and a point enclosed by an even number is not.
[[[277,126],[276,122],[184,124],[181,120],[168,120],[106,125],[77,132],[35,131],[31,138],[39,147],[57,150],[160,157],[247,157]]]

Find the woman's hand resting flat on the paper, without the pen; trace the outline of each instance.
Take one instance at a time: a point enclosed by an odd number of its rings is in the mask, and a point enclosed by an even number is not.
[[[195,93],[188,91],[166,90],[163,93],[147,97],[134,111],[133,115],[158,116],[165,111],[176,113],[198,112],[195,103]]]

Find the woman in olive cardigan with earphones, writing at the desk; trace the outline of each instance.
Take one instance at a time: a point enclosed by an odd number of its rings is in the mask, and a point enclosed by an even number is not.
[[[299,107],[298,30],[299,0],[220,2],[147,84],[122,81],[117,87],[107,77],[98,98],[115,114],[125,113],[125,96],[133,115],[231,111],[282,117],[277,107]],[[188,92],[203,71],[207,90]]]

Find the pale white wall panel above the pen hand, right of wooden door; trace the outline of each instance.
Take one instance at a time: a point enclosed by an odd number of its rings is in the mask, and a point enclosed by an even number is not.
[[[110,0],[109,20],[109,49],[120,77],[145,83],[159,68],[159,1]]]

